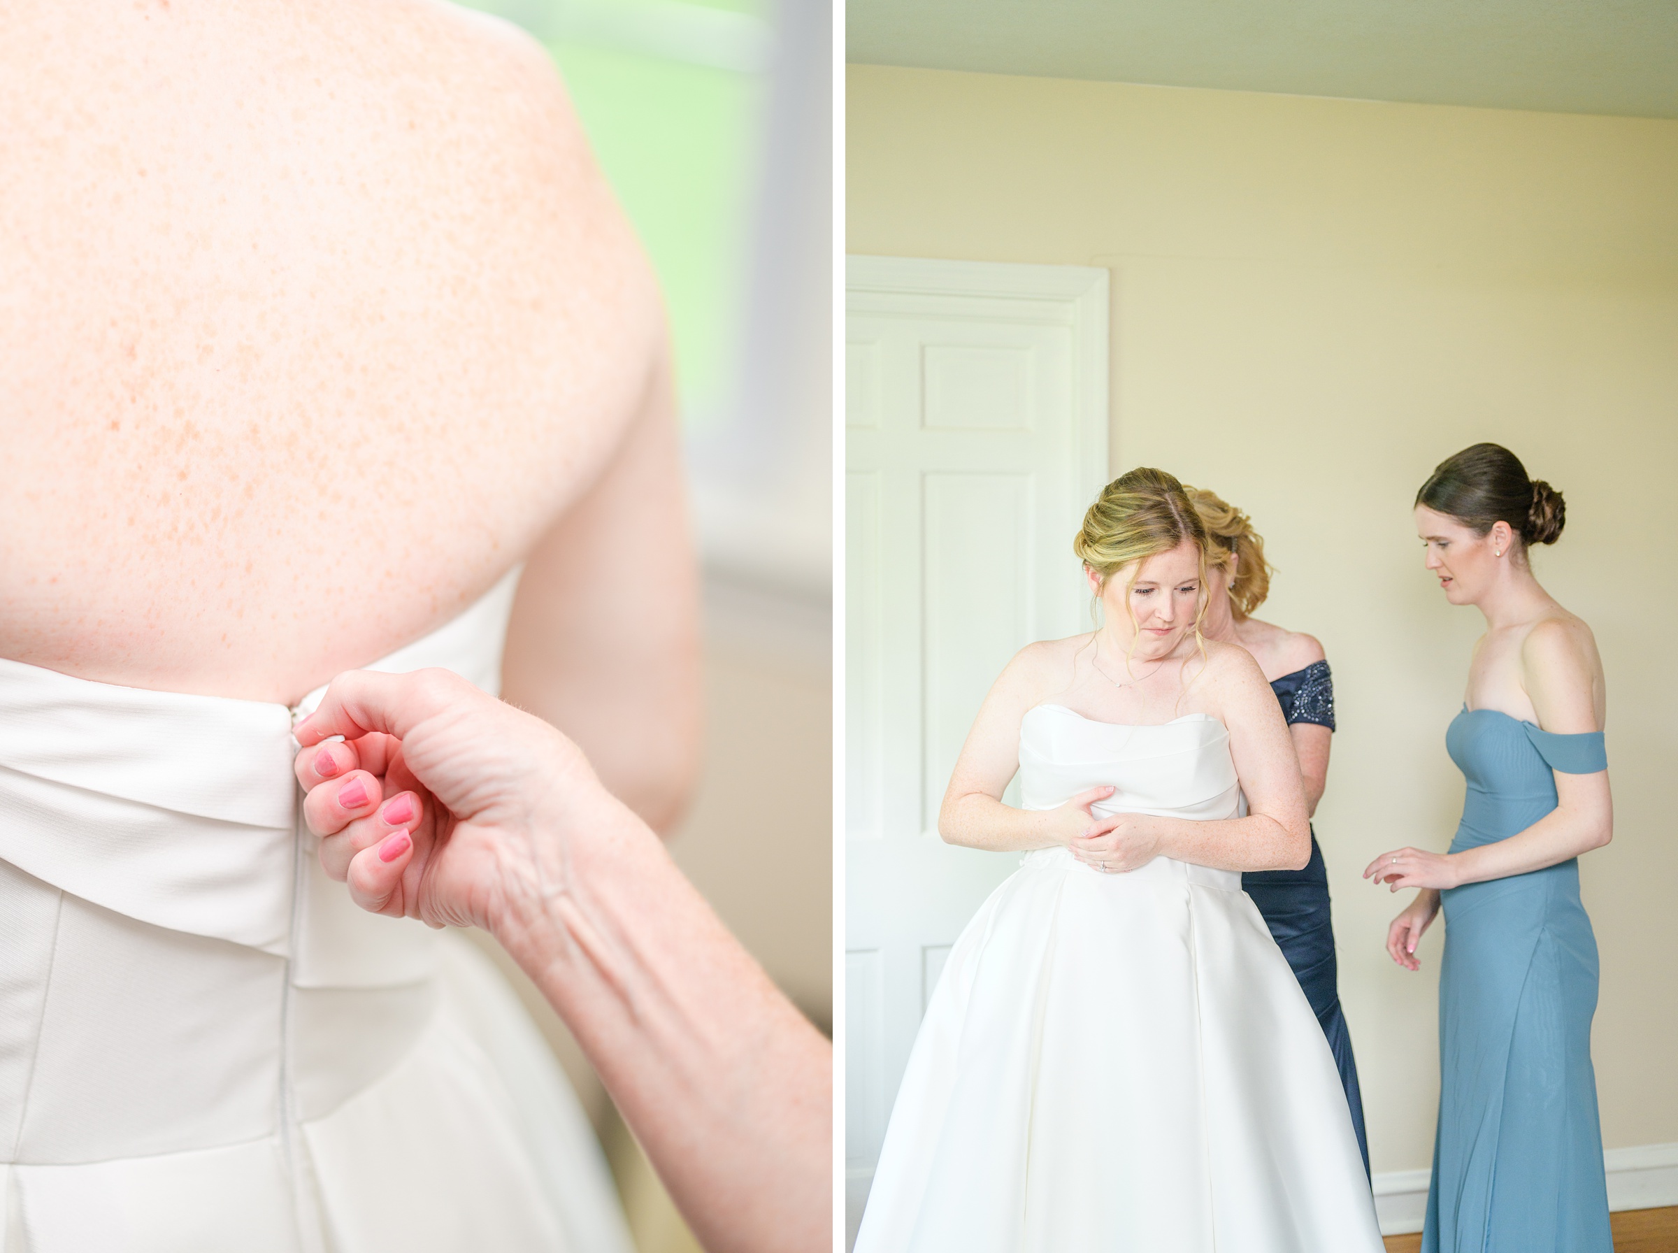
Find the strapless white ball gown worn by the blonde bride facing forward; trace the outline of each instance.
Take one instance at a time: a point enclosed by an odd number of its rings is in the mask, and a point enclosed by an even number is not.
[[[1040,704],[1022,805],[1232,819],[1228,731]],[[1381,1253],[1346,1092],[1233,871],[1027,854],[926,1006],[856,1253]]]

